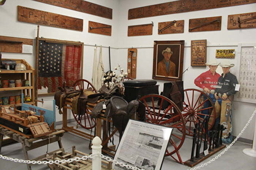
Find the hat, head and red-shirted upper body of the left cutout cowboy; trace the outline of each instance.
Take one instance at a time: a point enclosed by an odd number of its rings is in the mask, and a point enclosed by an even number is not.
[[[216,72],[218,64],[216,60],[206,63],[210,70],[203,72],[195,79],[196,86],[202,88],[207,94],[210,94],[211,90],[215,90],[215,85],[218,84],[218,79],[221,76]]]

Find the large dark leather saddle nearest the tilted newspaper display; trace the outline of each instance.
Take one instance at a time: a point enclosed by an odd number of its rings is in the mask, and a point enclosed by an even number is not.
[[[92,111],[92,118],[97,118],[99,116],[103,110],[103,104],[106,105],[104,115],[106,119],[112,118],[113,124],[120,134],[119,140],[121,140],[123,131],[128,123],[129,118],[131,118],[132,115],[135,115],[136,117],[138,112],[139,120],[145,120],[146,108],[142,102],[136,99],[128,103],[126,100],[119,96],[112,96],[109,100],[98,103]],[[108,125],[106,126],[106,131],[108,132]]]

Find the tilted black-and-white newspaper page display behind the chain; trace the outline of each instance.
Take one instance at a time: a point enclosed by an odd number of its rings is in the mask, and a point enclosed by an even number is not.
[[[129,120],[114,157],[118,162],[145,170],[159,170],[172,128]],[[115,170],[125,167],[114,165]]]

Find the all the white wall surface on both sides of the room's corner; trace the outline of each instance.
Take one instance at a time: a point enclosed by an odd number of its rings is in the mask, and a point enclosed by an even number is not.
[[[238,5],[234,7],[225,7],[217,9],[208,9],[203,11],[194,11],[186,13],[177,13],[156,17],[147,17],[142,19],[128,20],[128,9],[142,7],[146,5],[153,5],[158,3],[165,3],[172,0],[88,0],[93,3],[103,5],[113,9],[113,19],[106,19],[86,13],[73,11],[53,5],[39,3],[33,0],[8,0],[3,6],[0,6],[0,35],[14,36],[34,39],[37,36],[37,25],[30,23],[22,23],[17,20],[17,5],[29,8],[39,9],[61,15],[77,17],[84,20],[83,32],[72,31],[69,29],[48,27],[40,25],[39,36],[60,40],[82,41],[84,42],[84,62],[83,62],[83,78],[91,80],[92,64],[93,64],[93,46],[100,45],[114,47],[111,49],[111,66],[116,67],[120,64],[125,70],[127,69],[127,48],[138,48],[137,61],[137,79],[151,79],[153,68],[153,42],[154,40],[185,40],[184,50],[184,66],[185,70],[190,66],[190,42],[191,40],[207,39],[207,60],[215,57],[216,49],[236,49],[238,43],[255,43],[256,29],[237,29],[227,30],[227,15],[236,13],[255,12],[256,4]],[[222,16],[221,31],[207,31],[207,32],[188,32],[188,20],[200,17]],[[88,33],[88,21],[95,21],[99,23],[112,25],[112,36],[104,36],[93,33]],[[184,33],[158,35],[158,22],[171,20],[185,20]],[[128,25],[147,24],[154,22],[153,35],[150,36],[127,36]],[[34,42],[35,43],[35,42]],[[35,47],[35,46],[34,46]],[[146,48],[145,48],[146,47]],[[99,55],[99,48],[98,48]],[[105,64],[105,71],[109,70],[108,48],[103,48],[103,63]],[[18,58],[25,59],[33,67],[35,67],[35,50],[34,54],[14,54],[3,53],[3,58]],[[239,61],[231,59],[236,64],[231,72],[236,74],[239,70]],[[191,67],[189,71],[184,73],[184,88],[197,88],[193,80],[197,75],[206,71],[205,67]],[[221,71],[219,69],[218,71]],[[165,81],[157,80],[160,84],[159,91],[163,89]],[[45,99],[52,99],[47,97]],[[45,108],[52,108],[50,104],[45,103]],[[240,130],[251,116],[252,111],[255,110],[255,104],[234,102],[234,134],[238,135]],[[62,117],[56,113],[57,121],[62,120]],[[69,116],[71,118],[71,116]],[[242,138],[253,138],[254,121],[248,126]]]

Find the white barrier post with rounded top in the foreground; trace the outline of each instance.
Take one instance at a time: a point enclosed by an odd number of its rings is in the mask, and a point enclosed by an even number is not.
[[[101,139],[99,137],[93,138],[93,154],[100,153],[101,154]],[[101,170],[101,156],[96,156],[93,158],[93,170]]]

